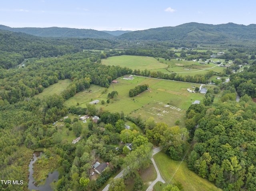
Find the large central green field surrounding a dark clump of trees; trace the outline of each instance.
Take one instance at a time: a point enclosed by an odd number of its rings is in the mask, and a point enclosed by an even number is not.
[[[200,87],[192,83],[182,83],[163,79],[152,79],[135,76],[133,80],[125,80],[120,77],[119,83],[112,83],[108,91],[102,94],[104,88],[91,85],[91,92],[83,91],[66,100],[65,106],[86,107],[86,103],[98,99],[100,103],[97,108],[102,107],[110,112],[121,112],[125,115],[138,116],[147,119],[152,116],[156,122],[165,122],[170,126],[175,125],[176,120],[180,120],[180,127],[185,127],[184,120],[186,109],[194,100],[202,101],[204,95],[200,93],[188,93],[187,88],[191,85]],[[137,96],[129,97],[129,90],[136,85],[148,84],[149,90]],[[106,103],[108,93],[118,92],[118,100],[110,100]],[[101,101],[105,100],[105,104]]]

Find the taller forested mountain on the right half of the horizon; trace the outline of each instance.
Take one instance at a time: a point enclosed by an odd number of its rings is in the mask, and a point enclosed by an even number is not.
[[[120,40],[188,41],[190,43],[217,43],[256,40],[256,25],[233,23],[212,25],[187,23],[176,27],[162,27],[125,33]]]

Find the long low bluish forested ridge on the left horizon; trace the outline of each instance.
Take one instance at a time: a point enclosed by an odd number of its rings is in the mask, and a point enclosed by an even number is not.
[[[74,28],[11,28],[8,26],[0,25],[0,30],[8,30],[12,32],[23,32],[41,37],[76,37],[76,38],[101,38],[111,39],[113,35],[109,33],[92,30],[92,29],[74,29]]]

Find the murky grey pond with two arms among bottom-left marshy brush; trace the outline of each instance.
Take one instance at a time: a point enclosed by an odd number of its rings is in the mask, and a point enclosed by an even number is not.
[[[36,186],[34,185],[34,177],[33,177],[33,164],[37,160],[37,158],[41,158],[42,152],[36,151],[33,153],[33,158],[30,160],[29,163],[29,177],[28,177],[28,189],[30,190],[39,190],[39,191],[52,191],[52,188],[50,186],[50,183],[54,181],[58,181],[59,173],[57,171],[54,171],[53,173],[49,173],[48,177],[46,178],[45,184]]]

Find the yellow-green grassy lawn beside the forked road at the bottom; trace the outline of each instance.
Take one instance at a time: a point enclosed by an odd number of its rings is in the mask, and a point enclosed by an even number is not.
[[[173,172],[176,170],[176,167],[180,163],[180,161],[170,159],[170,157],[164,152],[159,152],[154,155],[154,160],[156,161],[156,165],[158,166],[158,169],[165,181],[170,179]],[[193,171],[190,171],[187,167],[186,161],[181,163],[171,183],[174,183],[175,181],[182,183],[184,190],[186,191],[221,191],[221,189],[217,188],[207,179],[204,179]],[[158,183],[155,191],[160,190],[161,187],[160,183]]]

